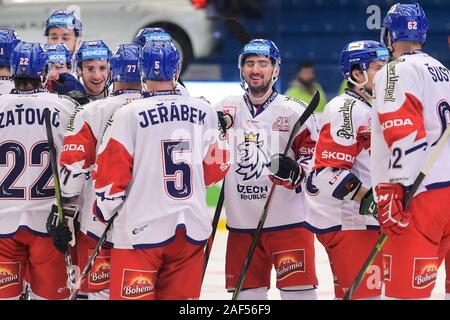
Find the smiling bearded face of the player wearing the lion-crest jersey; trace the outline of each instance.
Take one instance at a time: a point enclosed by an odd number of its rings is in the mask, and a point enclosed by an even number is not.
[[[263,56],[249,56],[243,66],[244,80],[252,94],[263,95],[269,89],[274,72],[270,58]]]

